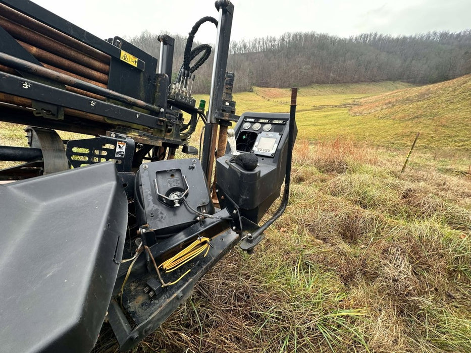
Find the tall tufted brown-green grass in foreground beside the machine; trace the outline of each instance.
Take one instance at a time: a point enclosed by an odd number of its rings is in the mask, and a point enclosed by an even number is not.
[[[147,343],[471,351],[471,181],[431,165],[400,173],[401,156],[383,153],[298,141],[290,205],[265,241],[251,256],[233,251]]]

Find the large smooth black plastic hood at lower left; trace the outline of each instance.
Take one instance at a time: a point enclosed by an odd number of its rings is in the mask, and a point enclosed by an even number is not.
[[[0,185],[0,200],[0,351],[90,351],[126,236],[115,166]]]

